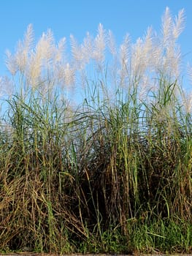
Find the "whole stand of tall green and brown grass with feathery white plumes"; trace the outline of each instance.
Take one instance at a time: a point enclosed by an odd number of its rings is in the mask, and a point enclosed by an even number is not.
[[[71,37],[70,64],[65,39],[56,45],[48,31],[33,48],[31,26],[7,53],[1,251],[191,252],[191,110],[176,42],[183,10],[173,20],[167,8],[162,21],[160,35],[148,29],[135,44],[126,36],[119,49],[101,25],[82,45]]]

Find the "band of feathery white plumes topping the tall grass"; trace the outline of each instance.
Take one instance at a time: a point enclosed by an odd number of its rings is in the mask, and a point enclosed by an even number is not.
[[[161,34],[149,28],[144,37],[134,44],[127,34],[119,47],[112,31],[106,32],[99,24],[96,37],[87,33],[82,44],[78,44],[73,35],[70,36],[69,56],[65,52],[66,39],[56,44],[50,30],[43,33],[34,45],[34,31],[29,25],[15,54],[7,51],[7,69],[12,77],[17,79],[20,75],[23,78],[21,86],[26,86],[26,89],[46,92],[59,86],[64,91],[74,89],[74,85],[80,86],[80,83],[83,87],[88,80],[107,75],[111,85],[108,88],[121,86],[130,92],[134,85],[137,86],[138,97],[147,97],[147,92],[154,90],[158,84],[154,80],[157,75],[163,72],[167,78],[173,79],[180,76],[181,53],[176,41],[183,31],[184,20],[184,10],[173,19],[166,7]],[[109,53],[105,73],[104,63]],[[93,74],[95,71],[96,74]]]

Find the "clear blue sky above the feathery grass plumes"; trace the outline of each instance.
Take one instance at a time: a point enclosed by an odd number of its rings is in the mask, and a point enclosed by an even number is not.
[[[142,37],[148,26],[158,30],[166,7],[177,15],[185,9],[185,31],[180,36],[184,61],[192,58],[191,0],[1,0],[0,1],[0,75],[6,74],[4,52],[13,50],[29,23],[36,38],[52,29],[55,39],[73,34],[79,42],[87,31],[96,34],[99,23],[112,30],[120,44],[126,33],[134,42]],[[192,64],[192,61],[191,61]]]

